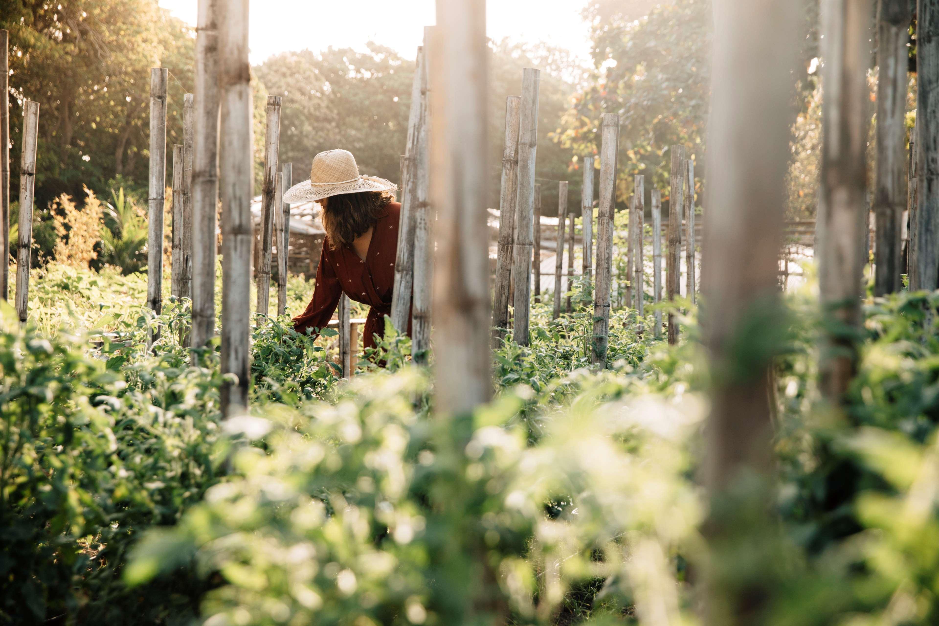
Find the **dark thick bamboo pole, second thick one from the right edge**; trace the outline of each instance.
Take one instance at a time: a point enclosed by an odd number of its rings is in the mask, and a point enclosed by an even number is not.
[[[903,209],[906,208],[906,69],[910,8],[907,0],[881,0],[878,20],[877,173],[874,296],[901,290]]]

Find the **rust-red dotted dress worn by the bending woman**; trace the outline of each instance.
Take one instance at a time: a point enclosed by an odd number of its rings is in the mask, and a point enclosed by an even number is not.
[[[364,261],[351,246],[331,250],[329,237],[323,240],[313,299],[306,311],[293,319],[297,332],[306,334],[308,328],[326,327],[345,292],[349,299],[372,307],[362,328],[362,347],[375,347],[374,336],[384,336],[385,315],[392,313],[400,215],[400,203],[393,202],[381,209]],[[410,330],[408,321],[408,335]]]

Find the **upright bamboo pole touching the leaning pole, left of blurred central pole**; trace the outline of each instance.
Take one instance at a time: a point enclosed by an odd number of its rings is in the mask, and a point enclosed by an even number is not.
[[[430,356],[431,307],[434,287],[434,210],[429,202],[430,185],[430,124],[431,124],[431,84],[430,66],[434,56],[434,26],[423,28],[423,125],[418,136],[418,159],[415,163],[416,176],[414,189],[414,296],[411,314],[411,355],[416,363],[425,364]]]

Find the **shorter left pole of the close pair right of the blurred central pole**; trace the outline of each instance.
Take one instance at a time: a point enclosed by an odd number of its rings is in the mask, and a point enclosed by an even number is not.
[[[518,203],[518,123],[522,99],[505,99],[505,143],[502,147],[502,186],[499,196],[499,256],[496,259],[496,288],[492,305],[492,326],[500,330],[509,326],[509,289],[512,286],[512,243],[516,237],[516,205]]]

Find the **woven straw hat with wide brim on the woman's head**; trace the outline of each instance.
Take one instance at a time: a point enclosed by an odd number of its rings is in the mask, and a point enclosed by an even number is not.
[[[339,193],[357,191],[393,191],[393,182],[377,176],[359,176],[359,165],[348,150],[320,152],[313,160],[310,179],[291,187],[284,202],[295,204],[322,200]]]

